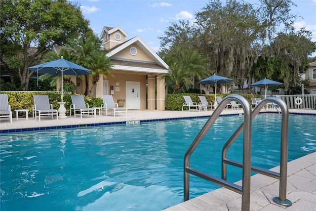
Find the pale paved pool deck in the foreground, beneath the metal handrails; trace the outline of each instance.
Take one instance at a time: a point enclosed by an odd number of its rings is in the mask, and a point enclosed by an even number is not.
[[[273,168],[279,172],[279,167]],[[236,182],[241,185],[241,181]],[[276,205],[279,180],[262,174],[251,176],[251,211],[315,211],[316,210],[316,152],[288,162],[286,199],[292,206]],[[240,211],[241,195],[219,188],[164,211]]]

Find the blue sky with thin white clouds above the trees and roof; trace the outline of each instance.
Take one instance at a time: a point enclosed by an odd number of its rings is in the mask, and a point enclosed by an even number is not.
[[[128,34],[128,40],[140,38],[155,52],[158,51],[162,36],[172,22],[194,21],[195,13],[208,4],[208,0],[77,0],[82,13],[90,21],[90,27],[98,34],[104,26],[120,26]],[[244,0],[259,4],[259,0]],[[306,27],[313,32],[316,42],[316,0],[293,0],[297,7],[292,13],[296,28]]]

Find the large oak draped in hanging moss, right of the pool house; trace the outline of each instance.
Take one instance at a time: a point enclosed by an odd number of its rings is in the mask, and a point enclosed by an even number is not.
[[[244,79],[250,82],[253,77],[251,68],[257,62],[264,61],[258,58],[277,55],[275,51],[274,54],[264,54],[264,50],[272,45],[280,45],[282,39],[278,38],[283,34],[286,35],[287,47],[294,47],[293,50],[296,49],[295,51],[301,54],[300,57],[295,57],[295,61],[287,60],[287,64],[295,63],[296,70],[302,69],[306,65],[305,58],[313,49],[313,42],[310,42],[309,37],[306,37],[307,42],[304,42],[304,45],[295,42],[295,39],[288,39],[292,37],[292,31],[288,33],[288,30],[292,28],[296,17],[290,12],[292,5],[295,4],[291,0],[260,0],[260,4],[237,0],[210,0],[196,13],[194,24],[184,21],[171,24],[165,35],[159,37],[160,53],[167,54],[168,51],[184,45],[197,49],[208,58],[206,72],[234,78],[235,84],[243,85]],[[300,42],[303,40],[300,39]],[[309,46],[308,50],[303,49],[306,46]],[[271,58],[270,64],[279,64],[280,62],[276,62],[279,59],[280,57],[272,62]],[[261,71],[276,70],[279,73],[270,72],[268,75],[284,76],[286,64],[282,64],[285,66],[270,67],[270,70],[263,68]],[[297,74],[298,71],[290,72],[292,73]]]

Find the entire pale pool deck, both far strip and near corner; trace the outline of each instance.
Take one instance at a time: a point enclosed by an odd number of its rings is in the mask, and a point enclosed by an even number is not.
[[[276,112],[276,110],[262,110],[262,112]],[[295,114],[313,114],[316,115],[316,110],[301,110],[289,109],[290,113]],[[224,110],[222,114],[230,115],[243,113],[243,110]],[[141,120],[166,120],[173,118],[196,118],[208,117],[212,111],[140,111],[128,110],[127,117],[119,114],[116,117],[113,115],[105,115],[94,118],[83,117],[68,117],[67,119],[59,119],[54,117],[52,120],[48,117],[41,118],[41,121],[35,121],[29,118],[19,117],[19,121],[13,119],[12,124],[8,119],[0,119],[0,132],[6,130],[22,131],[28,128],[49,128],[59,126],[85,126],[90,124],[103,123],[124,123],[128,121]],[[1,133],[0,133],[1,135]],[[279,167],[272,170],[278,172]],[[287,194],[286,198],[293,204],[290,207],[276,205],[273,198],[278,196],[278,180],[256,174],[251,177],[251,195],[250,195],[250,210],[251,211],[316,211],[316,152],[304,156],[297,160],[288,163],[287,168]],[[237,184],[241,184],[238,181]],[[225,188],[219,188],[202,196],[196,197],[189,201],[183,202],[176,206],[167,208],[165,211],[240,211],[241,210],[241,195]]]

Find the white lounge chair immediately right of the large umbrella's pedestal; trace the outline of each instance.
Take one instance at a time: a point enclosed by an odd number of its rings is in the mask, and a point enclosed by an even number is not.
[[[80,118],[82,119],[82,115],[90,114],[94,115],[97,118],[97,111],[95,108],[89,108],[89,104],[84,102],[83,95],[71,95],[71,101],[73,104],[70,105],[70,116],[71,110],[74,110],[74,116],[76,118],[76,111],[80,112]],[[79,115],[79,114],[78,114]]]

